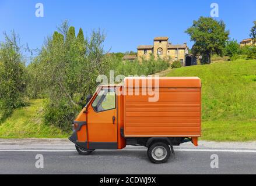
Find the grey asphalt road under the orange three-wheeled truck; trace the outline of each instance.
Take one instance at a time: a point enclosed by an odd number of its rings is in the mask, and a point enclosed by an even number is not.
[[[142,147],[81,156],[66,143],[65,148],[57,144],[34,144],[31,148],[0,142],[0,174],[256,174],[256,149],[251,148],[252,144],[237,149],[216,143],[198,148],[187,144],[174,148],[176,155],[169,162],[153,164]],[[43,169],[35,166],[37,154],[43,155]],[[218,169],[211,168],[213,154],[219,157]]]

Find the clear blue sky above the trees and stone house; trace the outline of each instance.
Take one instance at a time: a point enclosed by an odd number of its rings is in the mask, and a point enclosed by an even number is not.
[[[44,17],[36,17],[36,3],[43,3]],[[226,23],[230,37],[248,38],[256,20],[255,0],[91,0],[61,1],[0,0],[0,41],[3,31],[14,29],[23,44],[40,48],[65,19],[87,34],[94,28],[104,29],[104,48],[111,52],[136,51],[138,45],[151,45],[154,37],[167,36],[173,44],[187,42],[184,31],[199,16],[210,16],[211,3],[219,4],[219,19]]]

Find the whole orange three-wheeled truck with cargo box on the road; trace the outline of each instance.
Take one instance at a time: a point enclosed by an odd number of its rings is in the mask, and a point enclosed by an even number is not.
[[[164,163],[173,146],[198,145],[201,80],[127,77],[123,85],[100,85],[73,121],[73,130],[69,140],[79,154],[142,145],[153,163]]]

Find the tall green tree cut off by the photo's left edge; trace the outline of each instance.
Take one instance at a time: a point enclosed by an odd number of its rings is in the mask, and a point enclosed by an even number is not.
[[[5,34],[0,45],[0,120],[25,103],[27,76],[18,40],[14,32],[10,37]]]

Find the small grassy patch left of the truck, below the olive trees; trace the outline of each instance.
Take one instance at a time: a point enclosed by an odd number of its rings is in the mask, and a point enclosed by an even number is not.
[[[30,101],[30,105],[14,110],[12,116],[0,124],[0,138],[67,138],[59,128],[42,122],[43,99]]]

